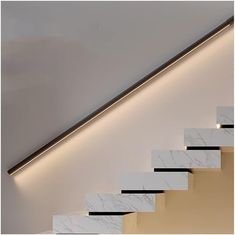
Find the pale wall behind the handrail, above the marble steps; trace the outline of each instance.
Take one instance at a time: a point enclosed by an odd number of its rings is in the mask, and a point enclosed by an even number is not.
[[[56,4],[56,5],[55,5]],[[27,169],[6,170],[233,14],[232,2],[2,3],[2,233],[50,229],[233,105],[233,30]]]

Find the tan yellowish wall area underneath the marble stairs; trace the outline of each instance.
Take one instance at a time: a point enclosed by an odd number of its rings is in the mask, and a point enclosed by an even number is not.
[[[165,210],[125,216],[125,233],[233,234],[234,153],[220,171],[193,171],[190,191],[165,193]],[[128,218],[129,217],[129,218]]]

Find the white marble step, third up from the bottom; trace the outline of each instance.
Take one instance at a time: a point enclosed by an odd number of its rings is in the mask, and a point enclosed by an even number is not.
[[[126,173],[121,177],[121,189],[130,190],[188,190],[188,172]]]

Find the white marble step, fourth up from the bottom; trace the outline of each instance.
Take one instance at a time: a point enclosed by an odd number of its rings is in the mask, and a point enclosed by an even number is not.
[[[220,168],[220,150],[153,150],[153,168]]]

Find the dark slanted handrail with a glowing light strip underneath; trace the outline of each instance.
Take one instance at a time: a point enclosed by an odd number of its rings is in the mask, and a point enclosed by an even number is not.
[[[110,101],[108,101],[107,103],[99,107],[98,109],[96,109],[91,114],[87,115],[85,118],[77,122],[68,130],[62,132],[56,138],[52,139],[50,142],[43,145],[37,151],[33,152],[32,154],[27,156],[25,159],[23,159],[22,161],[14,165],[12,168],[10,168],[7,171],[8,174],[13,175],[17,171],[19,171],[20,169],[28,165],[30,162],[32,162],[33,160],[35,160],[36,158],[38,158],[39,156],[47,152],[49,149],[51,149],[56,144],[58,144],[59,142],[67,138],[69,135],[73,134],[75,131],[77,131],[78,129],[80,129],[81,127],[83,127],[84,125],[86,125],[87,123],[89,123],[90,121],[98,117],[99,115],[101,115],[107,109],[117,104],[119,101],[121,101],[122,99],[124,99],[125,97],[133,93],[134,91],[136,91],[138,88],[140,88],[141,86],[149,82],[151,79],[153,79],[154,77],[156,77],[157,75],[159,75],[160,73],[168,69],[170,66],[177,63],[180,59],[184,58],[189,53],[191,53],[192,51],[200,47],[202,44],[206,43],[212,37],[216,36],[221,31],[223,31],[224,29],[232,25],[233,21],[234,21],[233,16],[228,18],[226,21],[224,21],[222,24],[214,28],[212,31],[210,31],[209,33],[201,37],[199,40],[197,40],[196,42],[194,42],[193,44],[191,44],[190,46],[188,46],[187,48],[179,52],[177,55],[175,55],[174,57],[172,57],[171,59],[163,63],[161,66],[159,66],[158,68],[156,68],[155,70],[147,74],[145,77],[143,77],[142,79],[140,79],[139,81],[137,81],[136,83],[134,83],[133,85],[125,89],[124,91],[122,91],[119,95],[115,96],[113,99],[111,99]]]

